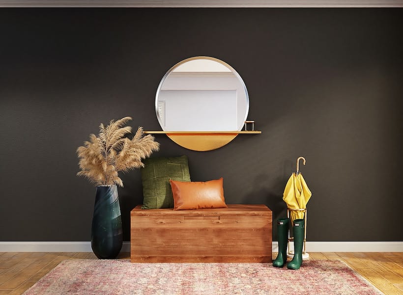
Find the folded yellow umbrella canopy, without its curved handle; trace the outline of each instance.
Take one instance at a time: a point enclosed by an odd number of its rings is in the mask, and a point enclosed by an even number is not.
[[[309,190],[302,174],[293,172],[288,179],[283,194],[283,200],[286,202],[288,209],[306,209],[311,196],[312,192]],[[304,218],[303,211],[290,210],[291,222],[302,218]]]

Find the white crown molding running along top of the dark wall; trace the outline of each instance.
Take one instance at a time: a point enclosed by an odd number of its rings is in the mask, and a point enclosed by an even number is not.
[[[0,0],[0,7],[403,7],[403,0]]]

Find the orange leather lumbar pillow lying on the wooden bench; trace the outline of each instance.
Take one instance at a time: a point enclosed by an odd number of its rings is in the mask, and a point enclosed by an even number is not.
[[[170,180],[173,210],[227,208],[224,199],[223,178],[206,182]]]

